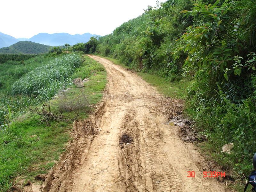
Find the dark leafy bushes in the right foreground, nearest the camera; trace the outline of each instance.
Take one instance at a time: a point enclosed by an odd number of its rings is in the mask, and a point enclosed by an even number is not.
[[[182,36],[188,51],[185,66],[197,69],[198,88],[192,88],[189,102],[192,117],[214,146],[212,150],[234,144],[231,156],[218,154],[216,158],[240,176],[252,168],[248,161],[255,153],[256,133],[256,54],[248,33],[254,24],[244,23],[250,17],[255,20],[255,4],[242,2],[194,4],[191,11],[183,11],[194,22]]]

